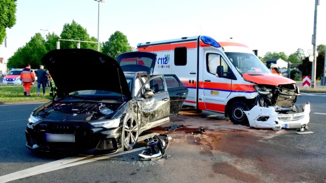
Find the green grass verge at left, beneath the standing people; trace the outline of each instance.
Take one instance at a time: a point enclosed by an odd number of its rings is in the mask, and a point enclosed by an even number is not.
[[[46,96],[43,97],[42,87],[40,89],[41,96],[36,96],[36,86],[31,87],[31,96],[26,97],[24,95],[23,86],[0,86],[0,103],[4,102],[17,102],[17,101],[37,101],[37,100],[51,100],[49,96],[50,88],[46,88]]]

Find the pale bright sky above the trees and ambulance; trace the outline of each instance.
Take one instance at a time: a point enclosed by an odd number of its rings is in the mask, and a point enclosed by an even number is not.
[[[312,49],[315,0],[105,0],[100,3],[100,41],[119,30],[137,43],[206,35],[245,43],[258,55]],[[18,0],[16,25],[7,29],[7,60],[40,29],[61,34],[74,19],[97,37],[94,0]],[[47,34],[47,32],[46,32]],[[317,44],[326,44],[326,0],[320,0]],[[307,54],[308,55],[308,54]]]

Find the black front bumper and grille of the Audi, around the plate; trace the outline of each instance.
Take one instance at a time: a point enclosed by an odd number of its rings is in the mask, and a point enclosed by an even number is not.
[[[67,128],[68,127],[68,128]],[[47,142],[46,134],[74,134],[75,142]],[[40,151],[110,154],[122,151],[121,127],[94,128],[88,123],[42,122],[26,127],[26,146]]]

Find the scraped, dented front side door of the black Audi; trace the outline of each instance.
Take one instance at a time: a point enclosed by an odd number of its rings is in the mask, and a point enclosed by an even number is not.
[[[144,98],[144,93],[150,90],[154,91],[154,96]],[[155,75],[148,79],[140,88],[137,99],[143,100],[142,111],[138,112],[147,116],[141,119],[145,129],[159,126],[170,120],[170,98],[163,75]]]

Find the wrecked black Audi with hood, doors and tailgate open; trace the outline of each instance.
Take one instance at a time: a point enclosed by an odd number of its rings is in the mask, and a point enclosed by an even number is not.
[[[46,54],[42,64],[51,73],[58,99],[32,112],[26,146],[115,153],[132,149],[141,132],[177,115],[188,89],[173,74],[152,75],[156,54],[130,52],[117,60],[88,49]]]

